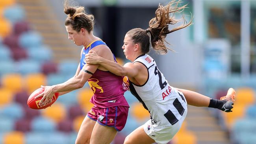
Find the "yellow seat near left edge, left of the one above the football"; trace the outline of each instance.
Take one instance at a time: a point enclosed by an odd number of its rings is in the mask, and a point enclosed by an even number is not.
[[[6,74],[2,77],[2,86],[17,92],[22,89],[22,76],[20,74]]]

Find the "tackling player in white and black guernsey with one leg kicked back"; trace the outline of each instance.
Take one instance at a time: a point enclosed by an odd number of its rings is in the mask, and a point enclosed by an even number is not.
[[[230,112],[233,108],[234,89],[230,88],[221,100],[215,100],[197,92],[171,87],[154,59],[147,55],[150,41],[154,50],[166,54],[166,35],[191,25],[190,20],[182,26],[168,30],[169,24],[177,22],[174,13],[183,11],[187,6],[178,7],[179,3],[179,0],[173,0],[167,6],[158,6],[156,17],[150,20],[147,30],[135,28],[126,33],[122,49],[126,59],[132,63],[121,66],[98,56],[93,50],[85,55],[88,64],[100,64],[118,76],[128,76],[130,91],[150,113],[150,120],[130,133],[124,144],[168,143],[186,117],[187,104],[218,108],[225,112]]]

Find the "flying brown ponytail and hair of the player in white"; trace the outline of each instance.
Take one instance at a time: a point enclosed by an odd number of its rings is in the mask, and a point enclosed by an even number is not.
[[[182,19],[184,20],[184,24],[182,26],[178,26],[173,30],[168,29],[169,24],[173,25],[180,21],[174,18],[174,14],[180,13],[187,8],[187,4],[179,7],[180,3],[180,0],[172,0],[169,2],[169,4],[167,4],[167,6],[159,5],[158,9],[156,10],[156,16],[149,21],[148,29],[143,30],[141,28],[135,28],[126,33],[127,35],[130,35],[135,43],[141,44],[141,52],[144,54],[149,52],[150,38],[148,32],[150,33],[153,49],[159,54],[166,54],[167,50],[171,50],[165,46],[164,42],[166,42],[166,35],[182,28],[186,28],[192,24],[193,18],[187,22],[183,15]]]

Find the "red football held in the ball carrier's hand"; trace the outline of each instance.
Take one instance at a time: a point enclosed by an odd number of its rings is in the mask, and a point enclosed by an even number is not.
[[[40,98],[34,99],[36,96],[38,96],[39,94],[41,94],[45,89],[43,88],[39,88],[37,90],[35,90],[32,94],[30,94],[29,98],[28,98],[28,106],[31,109],[45,109],[46,107],[49,107],[50,105],[52,105],[52,103],[54,103],[58,96],[59,96],[59,92],[56,92],[54,94],[54,96],[52,97],[52,102],[50,103],[50,101],[48,100],[47,102],[44,101],[43,105],[38,105],[38,103],[40,102],[40,100],[43,98],[43,96],[41,96]]]

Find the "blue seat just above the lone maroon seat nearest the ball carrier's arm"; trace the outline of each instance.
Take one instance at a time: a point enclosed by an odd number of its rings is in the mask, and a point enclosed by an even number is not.
[[[43,63],[52,59],[52,51],[47,46],[40,46],[28,50],[28,57],[39,63]]]

